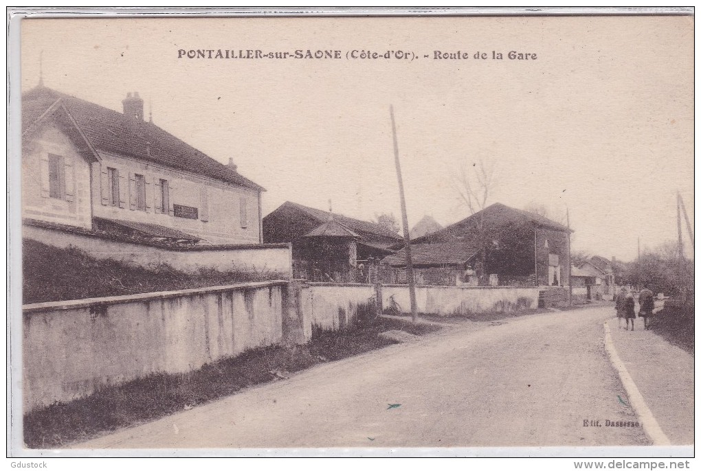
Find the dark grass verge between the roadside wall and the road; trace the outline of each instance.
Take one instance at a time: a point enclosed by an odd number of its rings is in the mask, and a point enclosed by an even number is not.
[[[104,388],[86,398],[57,402],[25,414],[25,444],[34,449],[66,447],[224,398],[248,386],[276,381],[318,363],[396,343],[378,337],[386,330],[424,335],[438,329],[435,325],[411,325],[382,318],[355,330],[318,332],[305,345],[253,349],[184,374],[151,374]]]

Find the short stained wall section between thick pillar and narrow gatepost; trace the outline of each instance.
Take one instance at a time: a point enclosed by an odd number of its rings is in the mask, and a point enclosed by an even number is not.
[[[343,330],[375,315],[375,286],[367,284],[308,283],[306,304],[314,330]]]

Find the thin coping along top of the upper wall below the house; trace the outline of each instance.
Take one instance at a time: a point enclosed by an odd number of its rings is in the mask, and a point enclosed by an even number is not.
[[[85,227],[71,226],[60,223],[48,223],[47,221],[37,219],[22,219],[22,225],[32,227],[41,227],[41,229],[56,230],[67,232],[69,234],[81,235],[84,237],[95,237],[97,239],[105,239],[109,241],[122,242],[123,244],[132,244],[136,246],[149,246],[163,248],[168,251],[175,252],[198,252],[198,251],[226,251],[226,250],[241,250],[241,249],[263,249],[263,248],[287,248],[292,249],[292,244],[289,242],[278,242],[275,244],[220,244],[220,245],[193,245],[193,246],[178,246],[173,244],[165,244],[155,241],[145,241],[140,239],[131,239],[130,237],[121,236],[118,234],[110,234],[105,231],[97,231],[86,229]]]

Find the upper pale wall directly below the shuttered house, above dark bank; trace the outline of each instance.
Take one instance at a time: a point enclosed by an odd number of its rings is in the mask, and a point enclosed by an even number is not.
[[[221,272],[238,270],[270,274],[275,278],[292,278],[292,249],[289,244],[179,248],[139,244],[85,232],[66,232],[36,225],[22,225],[22,237],[27,239],[59,248],[74,246],[95,258],[109,258],[144,268],[168,264],[188,273],[197,273],[200,269],[216,269]]]

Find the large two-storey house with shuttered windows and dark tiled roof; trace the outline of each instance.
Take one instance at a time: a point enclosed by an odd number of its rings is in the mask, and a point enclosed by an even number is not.
[[[39,86],[22,95],[22,218],[144,240],[260,244],[264,188],[144,120]]]

